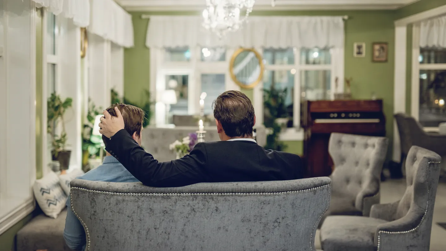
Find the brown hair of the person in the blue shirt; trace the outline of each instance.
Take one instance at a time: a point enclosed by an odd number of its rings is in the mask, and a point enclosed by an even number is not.
[[[124,129],[128,134],[132,136],[136,132],[136,135],[140,136],[142,124],[145,120],[145,112],[133,105],[113,104],[107,108],[107,112],[110,113],[112,117],[117,117],[115,107],[118,107],[122,114],[122,118],[124,119]],[[105,146],[107,146],[107,143],[110,141],[110,139],[104,135],[102,135],[102,140]]]

